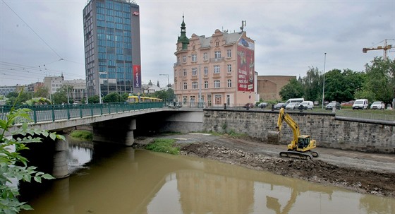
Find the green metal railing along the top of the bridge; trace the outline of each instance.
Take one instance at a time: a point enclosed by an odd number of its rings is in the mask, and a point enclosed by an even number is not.
[[[64,119],[94,117],[103,114],[138,111],[142,109],[163,108],[164,102],[104,103],[87,105],[21,105],[18,108],[31,109],[28,114],[32,122],[58,121]],[[11,106],[0,106],[0,119],[6,119]],[[25,121],[16,121],[17,123]]]

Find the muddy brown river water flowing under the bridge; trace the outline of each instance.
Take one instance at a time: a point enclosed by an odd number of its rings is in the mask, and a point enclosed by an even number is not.
[[[395,213],[394,198],[197,157],[99,143],[68,156],[71,176],[32,190],[21,213]]]

